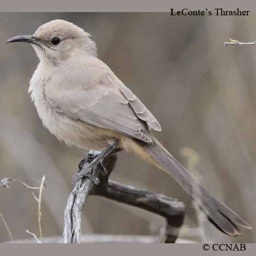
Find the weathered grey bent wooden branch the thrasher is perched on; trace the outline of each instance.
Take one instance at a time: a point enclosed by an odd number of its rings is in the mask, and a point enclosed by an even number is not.
[[[107,181],[117,160],[116,155],[110,155],[114,147],[106,148],[100,155],[85,154],[81,162],[82,171],[68,197],[65,209],[65,228],[63,237],[65,243],[81,242],[81,212],[89,195],[99,195],[118,202],[127,203],[144,210],[159,214],[166,219],[164,236],[165,243],[174,243],[184,220],[184,205],[182,202],[165,195],[150,193],[147,190],[136,189],[129,185]],[[92,160],[93,159],[93,160]],[[103,161],[103,165],[101,162]],[[104,167],[105,168],[104,168]]]

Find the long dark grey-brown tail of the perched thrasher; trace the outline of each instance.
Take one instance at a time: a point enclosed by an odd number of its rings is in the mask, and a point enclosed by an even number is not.
[[[156,167],[170,174],[185,192],[193,199],[208,220],[224,234],[237,236],[242,234],[238,226],[252,227],[214,197],[153,137],[152,143],[136,143],[131,151],[148,160]],[[133,141],[134,142],[134,141]]]

